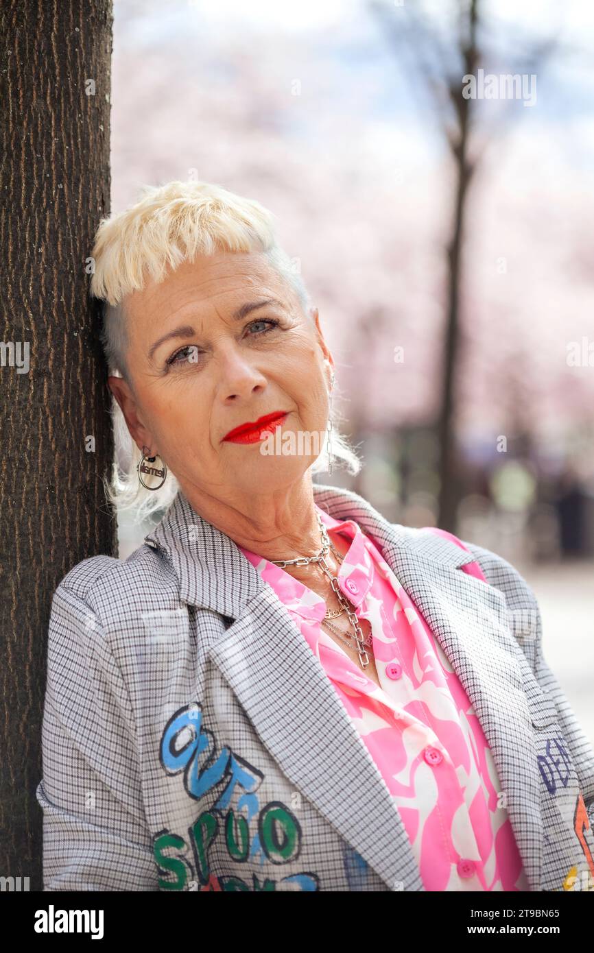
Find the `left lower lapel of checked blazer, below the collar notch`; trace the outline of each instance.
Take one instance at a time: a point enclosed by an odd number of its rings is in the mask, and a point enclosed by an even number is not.
[[[297,790],[390,890],[421,890],[388,788],[334,686],[272,589],[246,606],[210,658]]]

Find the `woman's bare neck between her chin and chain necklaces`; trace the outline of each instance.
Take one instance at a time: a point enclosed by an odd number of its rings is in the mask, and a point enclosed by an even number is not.
[[[271,560],[295,559],[317,556],[321,549],[309,473],[289,487],[250,493],[245,497],[235,493],[220,495],[218,487],[216,495],[192,485],[181,489],[195,513],[233,539],[237,546],[258,556]]]

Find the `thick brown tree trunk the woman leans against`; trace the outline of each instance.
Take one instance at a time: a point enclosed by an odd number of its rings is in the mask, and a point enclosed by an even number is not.
[[[6,0],[0,24],[0,874],[41,890],[51,598],[81,559],[117,555],[102,486],[111,401],[88,297],[110,206],[112,2]]]

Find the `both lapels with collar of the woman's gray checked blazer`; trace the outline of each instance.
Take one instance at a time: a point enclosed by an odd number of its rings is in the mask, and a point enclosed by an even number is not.
[[[538,890],[538,776],[536,763],[519,754],[531,728],[502,593],[461,572],[473,556],[448,540],[389,523],[362,497],[337,487],[314,484],[314,496],[332,517],[354,519],[377,541],[427,619],[491,746],[526,876]],[[209,658],[286,777],[390,890],[423,890],[379,769],[276,593],[181,491],[146,541],[170,559],[184,601],[233,620]]]

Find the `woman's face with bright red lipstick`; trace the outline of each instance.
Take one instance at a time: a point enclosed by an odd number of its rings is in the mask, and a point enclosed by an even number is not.
[[[303,476],[320,448],[297,435],[325,430],[334,361],[317,310],[303,313],[263,254],[198,255],[125,304],[132,388],[114,376],[109,386],[137,446],[161,456],[187,496],[233,501]],[[294,453],[226,438],[277,412],[269,439],[290,447],[293,431]]]

